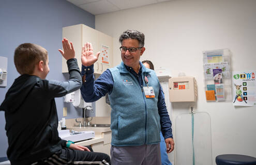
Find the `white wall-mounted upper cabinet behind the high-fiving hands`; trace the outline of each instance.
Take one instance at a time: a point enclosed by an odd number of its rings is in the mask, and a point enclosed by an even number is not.
[[[101,74],[106,69],[111,68],[113,64],[113,48],[112,37],[103,34],[91,27],[83,24],[63,27],[63,38],[67,38],[73,43],[76,51],[76,58],[81,70],[81,53],[82,46],[86,42],[91,42],[94,48],[94,53],[101,52],[98,61],[94,64],[94,73]],[[103,52],[102,52],[103,51]],[[68,68],[66,60],[62,58],[62,72],[67,73]]]

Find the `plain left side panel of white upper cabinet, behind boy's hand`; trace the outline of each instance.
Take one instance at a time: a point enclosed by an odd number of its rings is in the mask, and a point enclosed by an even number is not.
[[[69,42],[73,43],[74,51],[76,52],[76,58],[78,66],[81,70],[81,52],[82,52],[82,24],[63,27],[63,38],[67,38]],[[68,73],[67,60],[62,57],[62,73]]]

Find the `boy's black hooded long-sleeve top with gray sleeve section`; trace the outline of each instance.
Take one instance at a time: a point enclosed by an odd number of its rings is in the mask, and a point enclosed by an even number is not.
[[[66,146],[58,137],[58,117],[54,97],[80,89],[77,59],[67,61],[68,81],[21,75],[8,90],[0,110],[5,111],[7,156],[11,164],[27,164],[51,156]]]

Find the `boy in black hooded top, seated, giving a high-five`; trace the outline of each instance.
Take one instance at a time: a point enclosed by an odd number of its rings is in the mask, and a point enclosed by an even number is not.
[[[69,80],[46,80],[49,58],[43,47],[24,43],[14,53],[14,64],[21,74],[7,91],[0,110],[5,111],[7,156],[16,164],[108,164],[107,154],[94,153],[85,146],[58,137],[58,117],[54,97],[79,89],[81,73],[72,43],[63,39]]]

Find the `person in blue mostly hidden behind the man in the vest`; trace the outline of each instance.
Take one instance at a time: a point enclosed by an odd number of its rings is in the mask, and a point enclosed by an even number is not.
[[[154,70],[154,64],[149,60],[142,61],[143,65],[148,68]],[[163,94],[164,95],[164,94]],[[163,138],[162,133],[160,133],[161,142],[160,142],[160,151],[161,151],[161,164],[162,165],[172,165],[167,155],[167,147]]]

